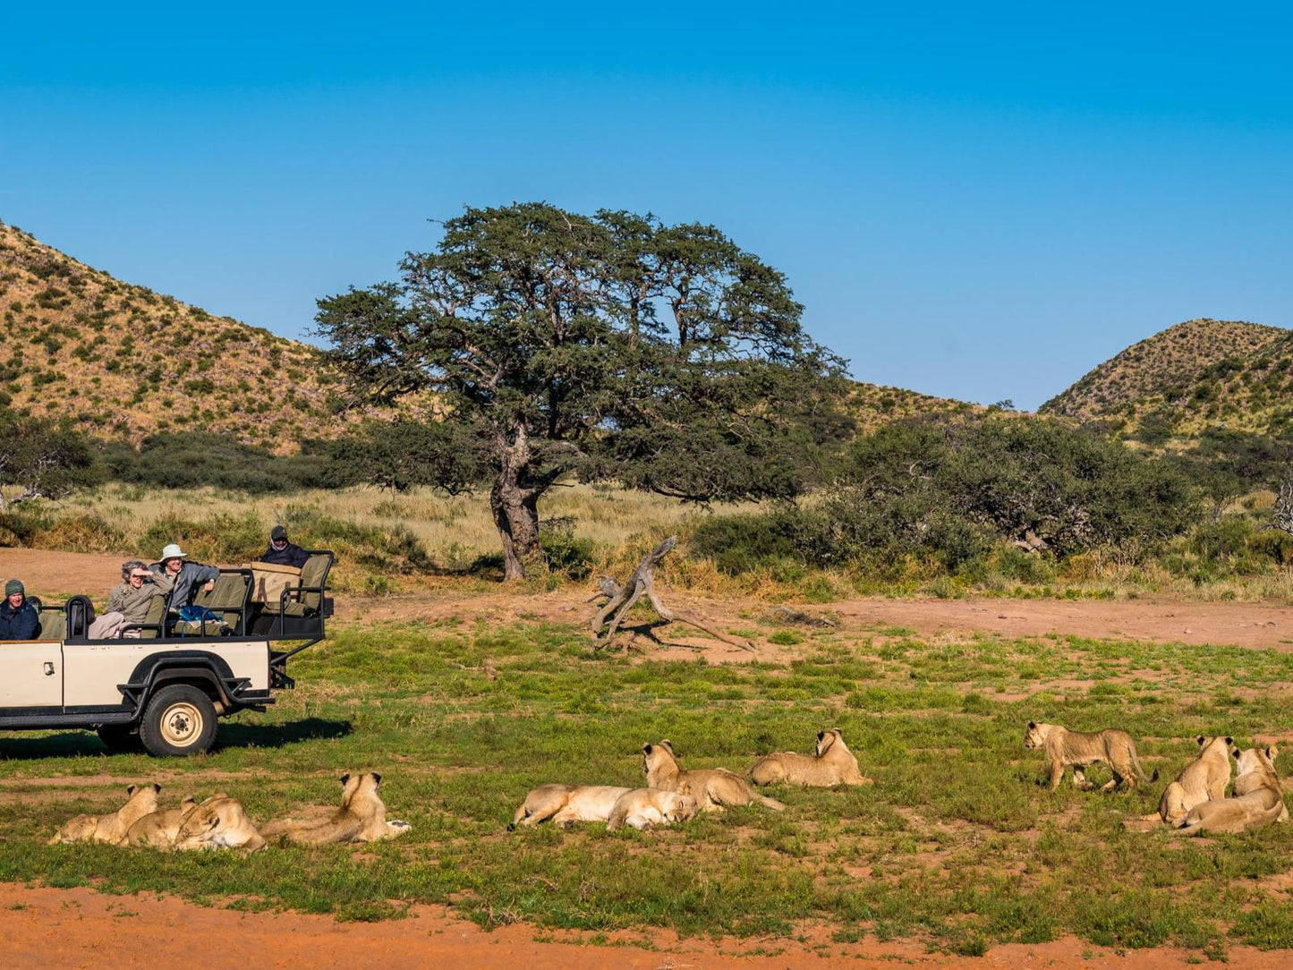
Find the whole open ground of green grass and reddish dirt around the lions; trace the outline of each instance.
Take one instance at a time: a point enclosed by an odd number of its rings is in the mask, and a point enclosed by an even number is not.
[[[8,551],[0,565],[66,591],[115,561]],[[204,940],[230,965],[229,947],[286,965],[352,944],[393,966],[1287,964],[1293,828],[1178,839],[1124,824],[1155,810],[1195,735],[1293,740],[1283,607],[874,599],[794,614],[675,592],[758,652],[643,626],[626,638],[636,649],[593,654],[586,595],[343,600],[330,639],[294,661],[297,691],[226,722],[198,759],[109,757],[89,733],[0,736],[12,965],[78,962],[112,940],[141,960]],[[1021,748],[1028,719],[1125,727],[1164,779],[1051,794]],[[745,771],[831,726],[874,786],[778,790],[784,815],[652,833],[504,828],[537,784],[640,784],[644,741],[671,738],[684,767]],[[160,781],[167,804],[226,790],[265,820],[335,802],[357,768],[383,772],[409,835],[250,857],[44,845],[132,781]]]

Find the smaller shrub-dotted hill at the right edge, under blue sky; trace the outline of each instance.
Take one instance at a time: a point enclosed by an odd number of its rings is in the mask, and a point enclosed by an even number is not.
[[[1290,369],[1293,330],[1191,319],[1133,344],[1038,413],[1152,442],[1209,427],[1281,433],[1293,429]]]

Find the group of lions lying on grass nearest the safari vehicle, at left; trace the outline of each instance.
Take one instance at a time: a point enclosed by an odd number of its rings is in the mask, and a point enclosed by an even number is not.
[[[203,802],[189,797],[178,808],[159,808],[162,786],[131,785],[127,801],[107,815],[78,815],[49,839],[58,842],[107,842],[114,846],[153,846],[187,851],[195,848],[242,848],[255,852],[269,839],[306,846],[339,842],[376,842],[402,835],[409,823],[388,820],[378,794],[376,772],[341,776],[341,806],[312,806],[295,817],[277,819],[257,828],[242,802],[220,792]]]

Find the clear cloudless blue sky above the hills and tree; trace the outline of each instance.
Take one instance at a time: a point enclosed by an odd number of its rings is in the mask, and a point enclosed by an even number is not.
[[[856,378],[1034,407],[1293,325],[1288,10],[9,5],[0,219],[288,336],[463,204],[709,221]]]

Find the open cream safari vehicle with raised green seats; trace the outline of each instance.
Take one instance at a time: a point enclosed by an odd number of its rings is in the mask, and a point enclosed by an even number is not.
[[[94,729],[112,751],[206,751],[217,718],[262,711],[273,691],[296,685],[287,661],[323,639],[335,561],[310,551],[300,577],[270,595],[256,570],[221,569],[194,600],[202,620],[168,618],[154,596],[122,639],[89,639],[85,596],[40,604],[40,639],[0,643],[0,728]]]

